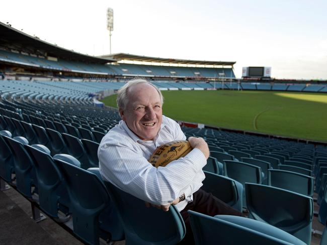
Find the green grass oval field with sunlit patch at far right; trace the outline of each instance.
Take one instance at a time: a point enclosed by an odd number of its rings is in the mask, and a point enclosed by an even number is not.
[[[176,120],[327,142],[327,94],[280,91],[162,91]],[[116,106],[116,95],[103,100]]]

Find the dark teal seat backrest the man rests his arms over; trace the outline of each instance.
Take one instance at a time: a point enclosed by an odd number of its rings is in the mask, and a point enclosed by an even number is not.
[[[155,207],[147,208],[144,201],[120,190],[108,181],[104,182],[120,215],[126,243],[176,244],[183,239],[186,232],[185,224],[174,205],[171,205],[167,212]]]

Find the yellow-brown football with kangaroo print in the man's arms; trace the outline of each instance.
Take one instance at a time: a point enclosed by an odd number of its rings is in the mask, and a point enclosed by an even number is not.
[[[165,167],[170,162],[185,157],[192,147],[188,141],[172,141],[159,146],[151,155],[149,162],[154,167]]]

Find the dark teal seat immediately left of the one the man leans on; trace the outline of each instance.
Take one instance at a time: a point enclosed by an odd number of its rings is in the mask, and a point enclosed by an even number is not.
[[[69,199],[72,200],[70,211],[74,233],[90,244],[99,244],[100,237],[109,241],[122,240],[124,233],[118,217],[112,219],[115,214],[107,216],[103,220],[105,224],[100,222],[99,216],[112,204],[107,189],[98,176],[76,166],[77,160],[68,155],[58,154],[53,159],[65,179]]]

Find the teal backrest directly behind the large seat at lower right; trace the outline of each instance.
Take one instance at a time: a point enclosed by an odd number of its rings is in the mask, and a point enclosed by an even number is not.
[[[313,178],[286,170],[269,169],[269,185],[313,196]]]

